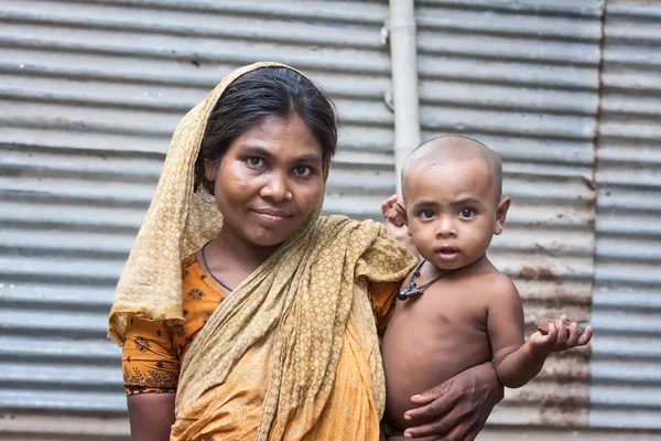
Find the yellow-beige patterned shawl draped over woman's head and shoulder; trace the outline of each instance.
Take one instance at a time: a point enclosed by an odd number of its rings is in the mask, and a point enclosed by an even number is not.
[[[231,82],[263,66],[290,68],[258,63],[231,73],[177,127],[154,198],[117,287],[108,332],[117,343],[123,342],[132,315],[183,320],[181,260],[214,238],[223,224],[216,204],[193,192],[194,164],[207,119]],[[326,178],[327,169],[324,174]],[[357,376],[371,383],[372,406],[362,412],[373,413],[349,418],[373,417],[378,421],[382,415],[383,372],[366,279],[402,280],[414,260],[381,225],[322,217],[322,203],[297,234],[221,303],[192,343],[182,359],[177,420],[185,419],[187,409],[205,394],[226,383],[235,384],[227,381],[232,368],[254,347],[268,344],[268,384],[252,434],[263,440],[304,438],[314,432],[332,399],[347,332],[358,334],[353,341],[359,342],[366,354],[366,363],[357,363],[355,369],[368,370]],[[232,391],[224,394],[231,396]],[[219,417],[212,412],[205,418],[213,421]],[[202,421],[197,416],[193,419]],[[293,420],[301,435],[288,431]]]

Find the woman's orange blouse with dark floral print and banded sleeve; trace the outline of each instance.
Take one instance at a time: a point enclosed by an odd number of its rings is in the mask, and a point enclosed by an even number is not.
[[[122,349],[123,383],[127,396],[174,394],[180,361],[191,342],[206,324],[227,293],[202,269],[195,255],[182,262],[184,322],[169,325],[132,318]],[[368,294],[383,335],[390,321],[399,283],[368,282]]]

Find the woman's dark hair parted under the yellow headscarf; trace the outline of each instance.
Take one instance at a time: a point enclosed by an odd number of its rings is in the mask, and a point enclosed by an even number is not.
[[[195,163],[195,190],[214,194],[204,173],[204,160],[219,163],[229,146],[268,117],[300,116],[322,146],[327,164],[337,146],[335,106],[318,86],[286,67],[261,67],[248,72],[223,93],[209,116]]]

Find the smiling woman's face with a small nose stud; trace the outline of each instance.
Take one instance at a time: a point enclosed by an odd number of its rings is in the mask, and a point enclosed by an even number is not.
[[[225,217],[223,233],[249,246],[292,237],[324,193],[322,147],[299,116],[267,118],[205,169]]]

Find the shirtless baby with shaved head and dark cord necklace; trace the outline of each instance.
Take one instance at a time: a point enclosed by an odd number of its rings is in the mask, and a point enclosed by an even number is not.
[[[517,288],[486,257],[510,207],[501,174],[500,160],[486,146],[441,137],[404,164],[405,209],[395,214],[389,200],[387,220],[408,225],[421,261],[402,284],[381,346],[388,440],[407,438],[412,396],[488,361],[503,386],[521,387],[552,352],[592,337],[590,327],[582,333],[576,323],[565,330],[557,321],[524,343]]]

